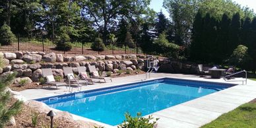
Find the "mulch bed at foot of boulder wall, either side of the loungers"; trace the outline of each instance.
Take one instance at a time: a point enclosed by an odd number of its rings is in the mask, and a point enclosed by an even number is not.
[[[112,78],[116,78],[116,77],[127,77],[130,75],[140,75],[140,74],[144,74],[144,71],[139,71],[139,73],[135,73],[135,71],[131,72],[131,74],[125,74],[125,73],[121,73],[121,75],[117,75],[117,74],[113,74],[111,77]],[[16,84],[12,84],[11,86],[9,86],[11,88],[11,90],[20,92],[22,90],[27,90],[27,89],[36,89],[36,88],[42,88],[42,85],[38,84],[39,82],[32,82],[31,84],[26,84],[24,86],[18,86]]]

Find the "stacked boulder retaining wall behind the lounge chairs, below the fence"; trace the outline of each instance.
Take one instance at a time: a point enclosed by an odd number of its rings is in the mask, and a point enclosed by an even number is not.
[[[95,65],[98,71],[106,74],[107,71],[117,73],[119,70],[144,70],[145,55],[75,55],[64,56],[60,53],[22,52],[1,53],[6,66],[0,68],[0,74],[16,72],[17,78],[28,79],[37,82],[42,77],[42,68],[53,69],[53,75],[63,77],[63,67],[73,67],[74,73],[78,73],[79,66]]]

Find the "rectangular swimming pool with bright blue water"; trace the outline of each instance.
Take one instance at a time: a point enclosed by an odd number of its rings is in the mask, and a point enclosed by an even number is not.
[[[164,78],[40,98],[38,101],[57,110],[118,125],[125,119],[125,112],[148,115],[231,86],[234,84]]]

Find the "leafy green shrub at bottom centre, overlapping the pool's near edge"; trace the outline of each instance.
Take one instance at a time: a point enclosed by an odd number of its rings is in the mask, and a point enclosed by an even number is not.
[[[149,115],[148,118],[141,117],[141,113],[138,112],[136,117],[132,117],[129,113],[125,113],[125,121],[118,125],[118,128],[153,128],[156,125],[156,118],[155,121],[152,115]],[[151,123],[150,123],[151,122]]]

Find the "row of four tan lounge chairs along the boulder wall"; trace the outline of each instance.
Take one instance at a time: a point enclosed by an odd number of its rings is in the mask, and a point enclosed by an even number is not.
[[[53,73],[51,69],[42,69],[42,74],[43,77],[46,78],[46,84],[49,85],[54,85],[56,86],[69,86],[69,92],[73,91],[72,86],[77,86],[82,88],[82,84],[88,85],[88,84],[94,84],[95,81],[98,82],[106,82],[107,79],[109,79],[112,82],[112,79],[109,77],[100,77],[98,71],[96,70],[96,67],[94,65],[88,66],[88,70],[90,71],[90,75],[87,74],[86,72],[86,67],[77,67],[77,70],[79,71],[78,77],[75,77],[72,67],[63,67],[63,72],[64,72],[64,81],[56,81],[53,77]],[[44,85],[42,85],[43,87]],[[79,90],[78,88],[78,90]]]

